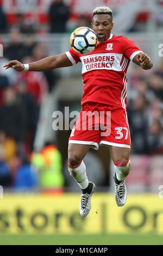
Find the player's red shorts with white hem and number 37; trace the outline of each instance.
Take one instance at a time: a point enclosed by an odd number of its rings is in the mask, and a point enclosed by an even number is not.
[[[69,142],[98,146],[130,148],[130,132],[126,110],[101,103],[84,103],[73,126]]]

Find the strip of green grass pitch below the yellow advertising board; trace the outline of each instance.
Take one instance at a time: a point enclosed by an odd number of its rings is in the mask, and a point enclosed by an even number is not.
[[[0,235],[0,245],[163,245],[156,234]]]

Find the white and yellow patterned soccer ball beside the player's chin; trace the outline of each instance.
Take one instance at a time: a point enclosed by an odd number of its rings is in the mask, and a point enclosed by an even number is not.
[[[70,36],[70,44],[74,51],[87,54],[95,50],[97,35],[91,28],[79,27]]]

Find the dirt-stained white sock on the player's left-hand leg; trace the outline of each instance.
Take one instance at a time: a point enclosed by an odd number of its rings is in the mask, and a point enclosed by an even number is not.
[[[78,182],[78,184],[79,184],[80,188],[82,188],[82,190],[87,188],[87,186],[89,185],[89,181],[87,179],[86,167],[85,167],[85,164],[83,161],[76,168],[72,168],[72,167],[68,166],[68,170],[70,172],[70,175],[73,177],[73,179]]]

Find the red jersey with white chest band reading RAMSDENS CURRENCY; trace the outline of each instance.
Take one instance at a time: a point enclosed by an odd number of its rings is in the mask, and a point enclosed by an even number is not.
[[[133,41],[112,34],[108,40],[99,42],[89,54],[79,54],[72,48],[66,52],[73,65],[78,62],[83,64],[82,105],[85,102],[99,102],[126,109],[126,73],[130,60],[140,52]]]

